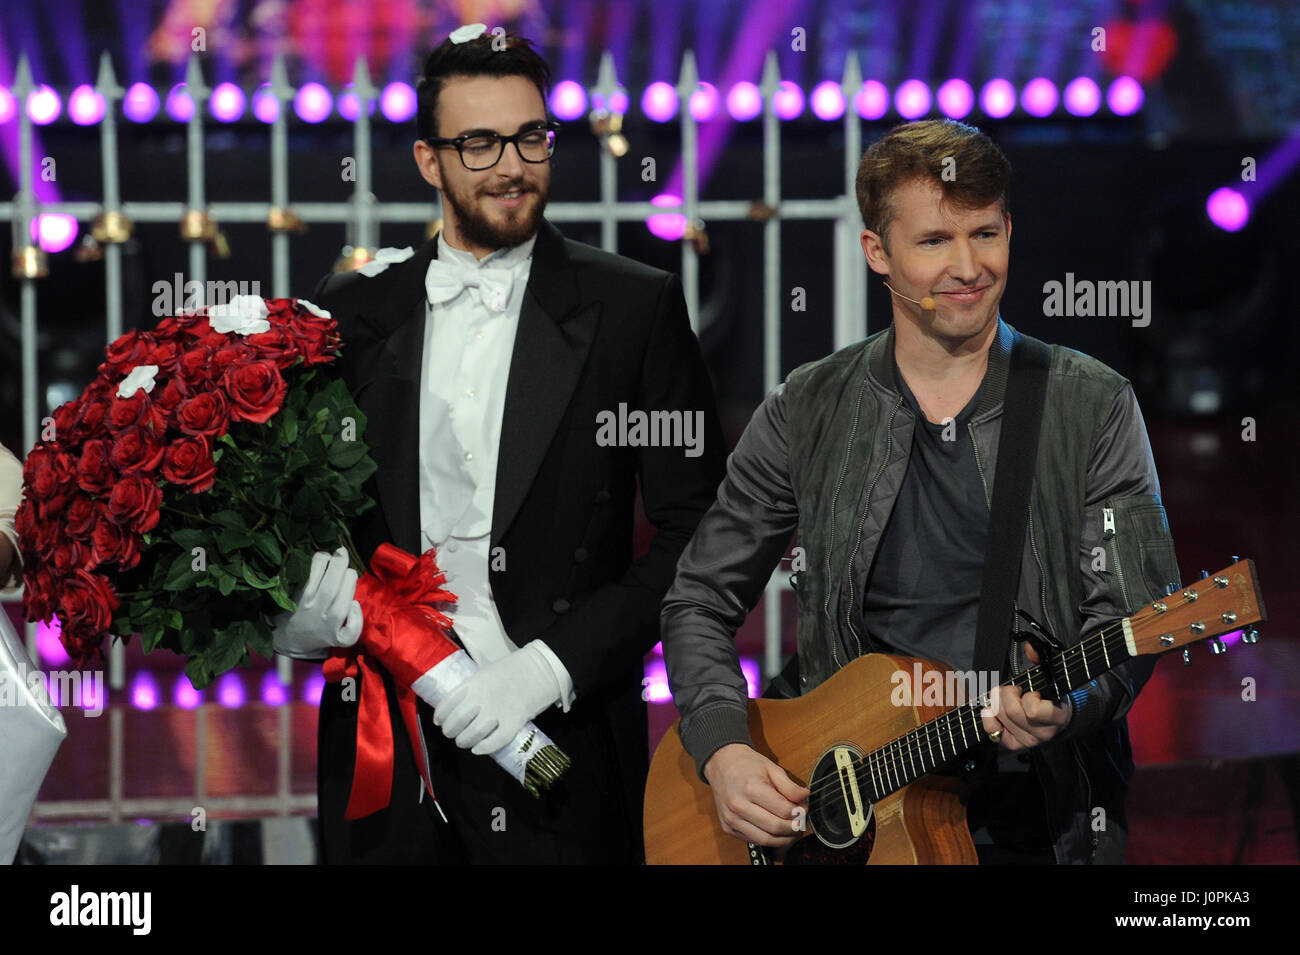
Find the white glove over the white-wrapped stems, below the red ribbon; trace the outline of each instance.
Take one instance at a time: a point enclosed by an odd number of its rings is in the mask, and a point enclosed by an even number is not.
[[[448,693],[433,711],[433,721],[462,750],[486,756],[559,698],[554,670],[536,642],[526,643]]]

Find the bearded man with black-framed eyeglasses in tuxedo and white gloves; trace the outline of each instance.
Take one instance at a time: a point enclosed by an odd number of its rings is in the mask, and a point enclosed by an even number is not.
[[[642,856],[642,660],[725,448],[677,278],[566,239],[542,217],[558,129],[549,82],[528,40],[482,25],[434,49],[413,153],[442,192],[442,231],[419,249],[380,249],[312,295],[339,322],[339,372],[378,465],[367,486],[377,507],[352,537],[367,559],[384,542],[437,548],[456,637],[480,667],[436,711],[419,704],[433,798],[389,689],[389,807],[354,821],[358,702],[326,687],[326,863]],[[677,429],[608,440],[599,416],[620,412]],[[638,489],[658,533],[633,559]],[[346,559],[320,557],[333,563],[315,618],[286,628],[299,656],[348,643],[360,625],[355,574],[335,567]],[[528,720],[572,760],[540,799],[484,755]]]

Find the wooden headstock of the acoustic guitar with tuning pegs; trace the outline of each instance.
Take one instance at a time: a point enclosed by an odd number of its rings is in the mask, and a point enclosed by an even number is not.
[[[1147,604],[1124,629],[1139,655],[1165,654],[1266,618],[1254,561],[1247,559]]]

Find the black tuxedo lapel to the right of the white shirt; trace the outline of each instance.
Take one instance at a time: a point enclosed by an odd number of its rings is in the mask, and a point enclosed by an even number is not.
[[[491,541],[506,534],[537,477],[595,338],[598,301],[584,303],[564,236],[542,220],[510,360],[497,453]]]

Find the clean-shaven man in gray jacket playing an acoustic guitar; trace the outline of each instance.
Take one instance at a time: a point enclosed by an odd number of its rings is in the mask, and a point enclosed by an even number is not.
[[[953,121],[906,123],[867,149],[862,249],[893,292],[892,327],[796,369],[764,400],[677,565],[662,635],[681,743],[751,859],[800,839],[805,813],[833,816],[828,793],[855,819],[853,838],[870,815],[833,760],[819,781],[754,748],[733,637],[797,530],[798,655],[775,681],[784,695],[802,699],[864,654],[992,673],[962,738],[949,730],[952,752],[924,743],[971,787],[957,824],[979,860],[1123,860],[1124,713],[1154,657],[1124,656],[1060,702],[998,683],[1134,613],[1178,569],[1130,383],[998,314],[1010,174],[988,136]],[[889,691],[862,686],[849,706],[888,707]],[[831,747],[840,724],[823,724]],[[968,750],[967,730],[983,734]],[[896,769],[870,772],[876,791],[897,789],[885,785]],[[647,854],[649,837],[647,822]]]

